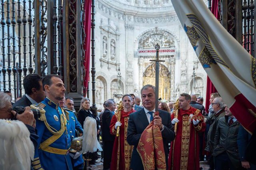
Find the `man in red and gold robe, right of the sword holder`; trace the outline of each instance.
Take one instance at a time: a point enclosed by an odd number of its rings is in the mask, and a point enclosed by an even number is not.
[[[171,115],[172,124],[178,123],[178,126],[168,159],[170,170],[199,170],[200,168],[198,132],[203,132],[206,125],[200,110],[190,106],[190,100],[189,94],[180,94],[178,118],[177,110]]]

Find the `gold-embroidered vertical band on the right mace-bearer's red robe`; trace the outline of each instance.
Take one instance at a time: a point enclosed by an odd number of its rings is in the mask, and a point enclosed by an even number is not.
[[[182,116],[182,137],[181,137],[181,158],[180,170],[186,170],[188,166],[188,150],[190,140],[190,117],[189,115]]]

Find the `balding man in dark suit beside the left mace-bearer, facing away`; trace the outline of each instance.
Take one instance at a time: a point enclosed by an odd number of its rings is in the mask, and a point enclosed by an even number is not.
[[[112,111],[115,110],[115,104],[112,100],[107,100],[106,109],[102,114],[102,141],[104,145],[104,161],[103,161],[103,169],[110,169],[110,162],[112,157],[112,150],[114,145],[115,136],[110,134],[110,122],[113,117]]]

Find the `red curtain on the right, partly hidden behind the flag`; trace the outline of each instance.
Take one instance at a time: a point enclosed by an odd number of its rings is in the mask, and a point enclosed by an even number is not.
[[[212,0],[212,14],[219,20],[220,14],[218,12],[218,3],[219,0]],[[210,105],[210,95],[212,93],[217,92],[216,88],[212,84],[210,78],[207,76],[207,83],[206,83],[206,99],[205,99],[205,110],[208,112],[209,105]]]

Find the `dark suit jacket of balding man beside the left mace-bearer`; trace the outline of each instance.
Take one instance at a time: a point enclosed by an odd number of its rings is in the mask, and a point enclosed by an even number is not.
[[[109,109],[105,109],[102,114],[102,141],[114,141],[115,136],[110,134],[110,122],[113,113]]]

